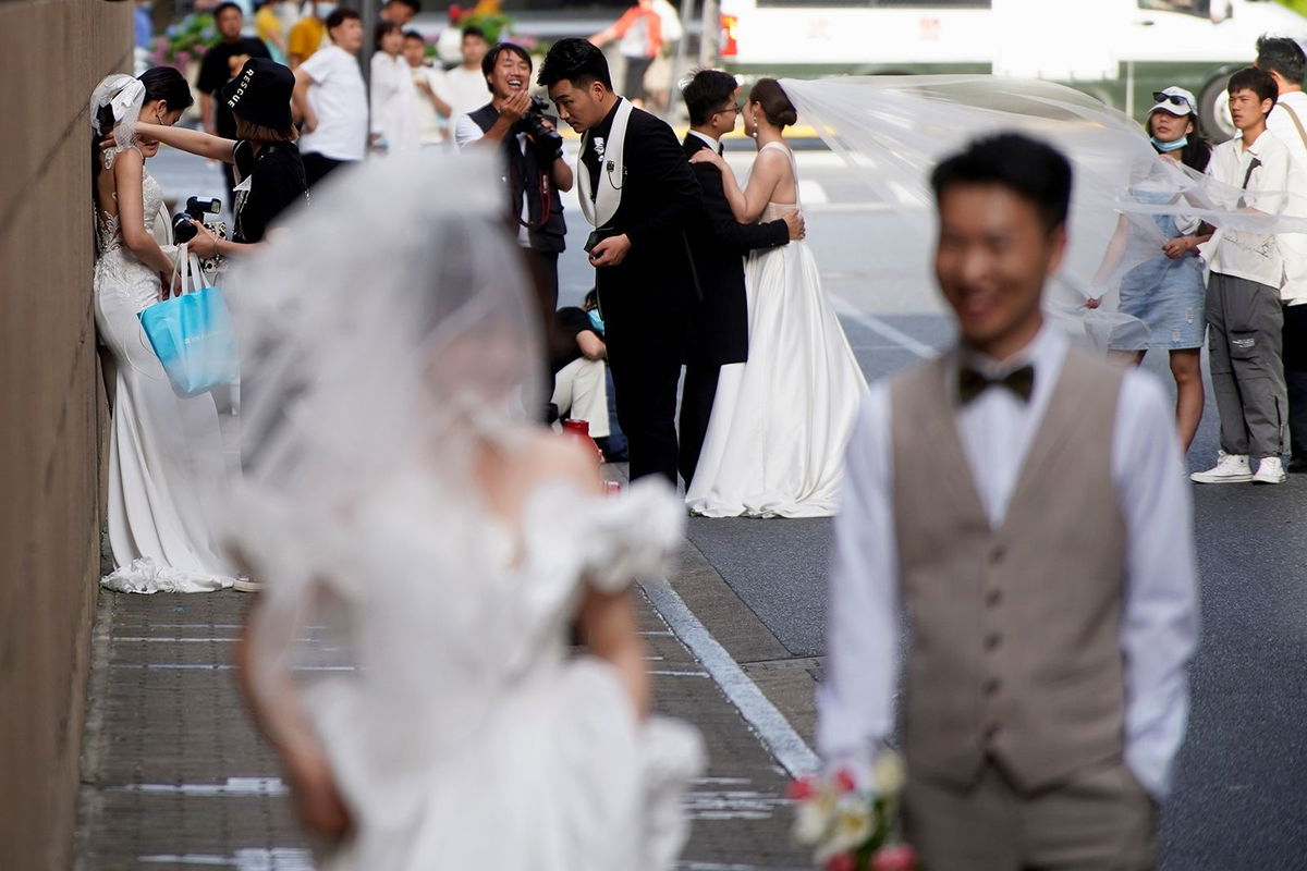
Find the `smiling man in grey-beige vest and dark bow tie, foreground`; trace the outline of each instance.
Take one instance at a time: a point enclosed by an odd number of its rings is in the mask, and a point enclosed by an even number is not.
[[[1044,321],[1070,166],[1018,135],[932,175],[958,346],[873,385],[850,441],[818,742],[894,730],[932,871],[1151,868],[1199,603],[1162,387]]]

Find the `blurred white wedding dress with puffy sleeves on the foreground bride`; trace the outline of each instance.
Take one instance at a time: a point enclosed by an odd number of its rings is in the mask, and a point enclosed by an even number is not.
[[[663,482],[605,498],[559,479],[510,526],[451,499],[439,469],[404,467],[331,529],[267,494],[233,513],[267,580],[256,662],[318,642],[255,675],[273,675],[273,699],[276,674],[295,675],[350,812],[323,867],[670,870],[698,734],[638,722],[616,669],[567,639],[587,585],[661,571],[680,500]]]

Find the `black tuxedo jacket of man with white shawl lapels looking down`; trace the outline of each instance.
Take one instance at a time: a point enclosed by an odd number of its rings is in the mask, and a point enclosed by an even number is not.
[[[689,313],[699,289],[686,230],[701,212],[699,183],[672,128],[639,108],[631,110],[626,125],[622,163],[621,179],[606,166],[599,172],[600,187],[622,189],[621,205],[608,226],[613,235],[625,232],[631,240],[620,265],[595,270],[604,320],[627,321],[644,312]],[[589,191],[580,191],[580,196],[589,196]]]

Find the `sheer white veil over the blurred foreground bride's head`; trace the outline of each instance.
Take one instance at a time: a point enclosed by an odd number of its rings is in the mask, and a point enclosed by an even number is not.
[[[378,550],[374,535],[359,554],[361,530],[451,535],[484,517],[472,445],[542,407],[541,338],[493,161],[412,155],[342,171],[222,285],[240,343],[243,474],[218,522],[229,554],[264,582],[251,678],[278,738],[305,727],[285,704],[291,680],[349,679],[350,614],[403,598],[359,589],[352,567]],[[378,504],[414,481],[439,494],[437,511]],[[369,576],[440,580],[439,567],[396,569]],[[405,676],[387,671],[396,687]]]

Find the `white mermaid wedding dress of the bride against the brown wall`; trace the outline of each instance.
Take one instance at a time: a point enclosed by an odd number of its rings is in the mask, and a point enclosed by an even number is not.
[[[142,171],[146,229],[163,192]],[[222,464],[213,397],[180,398],[150,349],[137,312],[159,300],[159,277],[123,244],[116,214],[97,209],[95,326],[114,355],[108,445],[108,538],[115,571],[102,584],[124,593],[192,593],[231,586],[209,534],[197,486]]]

